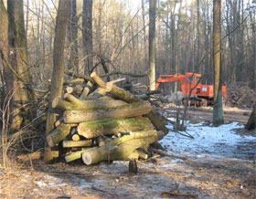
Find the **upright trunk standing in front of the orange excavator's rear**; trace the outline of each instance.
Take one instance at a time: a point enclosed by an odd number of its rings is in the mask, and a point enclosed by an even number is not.
[[[220,0],[214,0],[213,6],[213,64],[214,64],[214,99],[213,125],[224,123],[222,110],[222,73],[221,73],[221,26]]]

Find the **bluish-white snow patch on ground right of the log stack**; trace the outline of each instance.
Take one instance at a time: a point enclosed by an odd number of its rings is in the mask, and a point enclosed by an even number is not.
[[[251,159],[256,155],[254,147],[247,147],[256,142],[256,137],[237,134],[234,130],[243,128],[238,122],[224,124],[219,127],[187,122],[187,132],[181,131],[181,133],[188,133],[194,139],[171,131],[173,129],[171,124],[166,127],[170,129],[170,132],[160,143],[169,152],[194,152],[241,159]]]

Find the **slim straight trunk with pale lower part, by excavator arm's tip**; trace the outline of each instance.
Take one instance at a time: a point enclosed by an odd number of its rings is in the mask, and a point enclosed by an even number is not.
[[[155,90],[155,6],[156,0],[149,0],[148,56],[149,56],[149,87]]]

